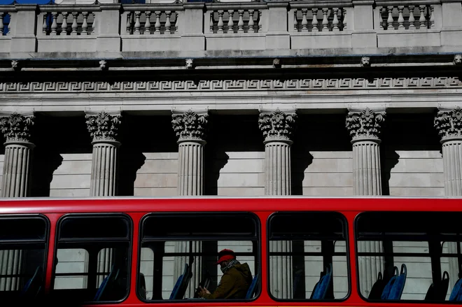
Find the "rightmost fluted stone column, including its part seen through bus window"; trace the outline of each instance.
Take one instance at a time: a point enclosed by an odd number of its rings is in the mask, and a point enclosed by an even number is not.
[[[462,109],[440,108],[434,126],[440,135],[444,171],[444,194],[462,196]],[[448,242],[447,252],[457,254],[457,243]],[[449,258],[449,289],[458,280],[460,267],[456,257]]]

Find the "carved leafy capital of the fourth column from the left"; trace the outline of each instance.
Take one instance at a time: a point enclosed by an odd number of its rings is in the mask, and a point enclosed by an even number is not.
[[[263,110],[258,115],[258,127],[265,137],[265,143],[281,141],[292,143],[291,138],[295,130],[297,111],[291,110]]]

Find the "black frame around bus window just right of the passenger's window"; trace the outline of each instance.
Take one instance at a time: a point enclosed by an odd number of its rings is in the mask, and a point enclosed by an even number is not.
[[[338,214],[339,217],[342,219],[343,222],[343,231],[344,231],[344,237],[345,237],[345,254],[346,254],[346,279],[348,280],[348,291],[346,292],[345,297],[342,299],[278,299],[274,297],[274,295],[271,293],[271,278],[269,276],[269,237],[270,237],[270,223],[272,218],[275,215],[300,215],[302,213],[307,213],[307,214],[316,214],[316,213],[335,213]],[[285,241],[285,240],[284,240]],[[287,240],[290,241],[290,240]],[[291,240],[293,241],[293,240]],[[321,254],[321,253],[320,253]],[[322,255],[322,254],[321,254]],[[348,223],[348,218],[344,215],[344,213],[340,211],[313,211],[313,210],[300,210],[300,211],[275,211],[274,213],[270,214],[267,218],[267,223],[266,223],[266,263],[267,263],[267,294],[268,296],[273,299],[274,301],[279,301],[283,303],[342,303],[346,300],[348,300],[351,297],[351,259],[350,259],[350,239],[349,239],[349,223]],[[333,270],[333,269],[332,269]],[[332,272],[333,273],[333,272]],[[306,287],[306,285],[305,285]]]

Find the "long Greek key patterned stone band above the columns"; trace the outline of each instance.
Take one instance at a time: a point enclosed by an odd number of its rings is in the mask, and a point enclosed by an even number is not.
[[[415,78],[309,78],[309,79],[242,79],[242,80],[162,80],[124,82],[30,82],[0,83],[6,93],[73,93],[73,92],[197,92],[197,91],[267,91],[267,90],[383,90],[402,88],[461,88],[458,77]]]

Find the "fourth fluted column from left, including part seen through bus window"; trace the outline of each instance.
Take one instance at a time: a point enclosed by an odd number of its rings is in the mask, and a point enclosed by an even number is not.
[[[260,110],[258,126],[265,138],[265,195],[290,195],[290,145],[295,110]],[[293,297],[292,244],[290,241],[269,241],[270,252],[287,252],[287,256],[270,257],[271,293],[278,299]]]

